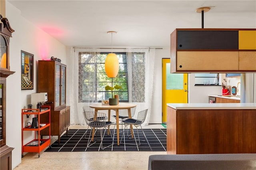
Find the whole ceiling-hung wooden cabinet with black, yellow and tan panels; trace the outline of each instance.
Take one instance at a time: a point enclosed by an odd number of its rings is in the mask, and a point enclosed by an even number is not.
[[[176,29],[170,44],[171,73],[256,72],[256,29]]]

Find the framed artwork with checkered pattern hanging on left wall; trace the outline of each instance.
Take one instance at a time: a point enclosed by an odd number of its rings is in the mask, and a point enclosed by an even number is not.
[[[21,89],[34,89],[34,55],[21,51]]]

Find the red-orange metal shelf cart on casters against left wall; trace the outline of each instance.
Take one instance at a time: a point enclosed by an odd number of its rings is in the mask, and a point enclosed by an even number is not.
[[[51,134],[50,134],[50,106],[44,106],[47,110],[40,111],[40,109],[22,109],[22,157],[24,152],[38,152],[38,158],[40,157],[40,152],[44,150],[47,146],[50,147]],[[23,125],[24,115],[33,115],[33,119],[38,119],[38,127],[31,127],[31,125]],[[46,117],[47,119],[42,119]],[[47,131],[48,138],[41,138],[40,132],[42,130]],[[24,131],[33,131],[34,139],[30,142],[24,144]]]

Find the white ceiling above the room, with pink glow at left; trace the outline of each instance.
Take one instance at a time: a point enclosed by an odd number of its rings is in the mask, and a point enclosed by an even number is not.
[[[256,28],[256,0],[6,0],[67,46],[169,47],[175,28]]]

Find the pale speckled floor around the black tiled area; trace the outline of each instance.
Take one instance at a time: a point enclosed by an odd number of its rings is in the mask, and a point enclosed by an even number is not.
[[[87,128],[71,126],[70,128]],[[143,128],[163,128],[154,124]],[[52,142],[56,140],[52,137]],[[14,170],[147,170],[148,157],[166,152],[41,152],[27,153]]]

